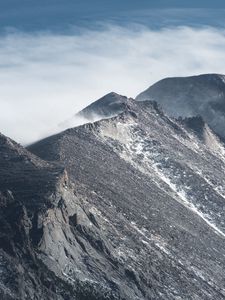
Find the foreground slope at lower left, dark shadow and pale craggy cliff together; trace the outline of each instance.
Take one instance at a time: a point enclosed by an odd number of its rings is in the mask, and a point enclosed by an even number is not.
[[[131,280],[63,167],[1,135],[0,170],[1,299],[121,299],[110,276],[129,294]]]

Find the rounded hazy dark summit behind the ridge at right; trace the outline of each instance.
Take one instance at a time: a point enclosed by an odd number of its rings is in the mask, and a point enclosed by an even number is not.
[[[200,115],[225,139],[225,76],[205,74],[166,78],[152,85],[136,100],[154,100],[170,116]]]

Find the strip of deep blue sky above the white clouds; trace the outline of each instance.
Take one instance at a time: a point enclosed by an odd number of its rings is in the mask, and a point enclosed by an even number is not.
[[[224,9],[224,10],[223,10]],[[174,25],[222,26],[224,0],[1,0],[0,29],[68,32],[102,23],[141,23],[151,28]]]

